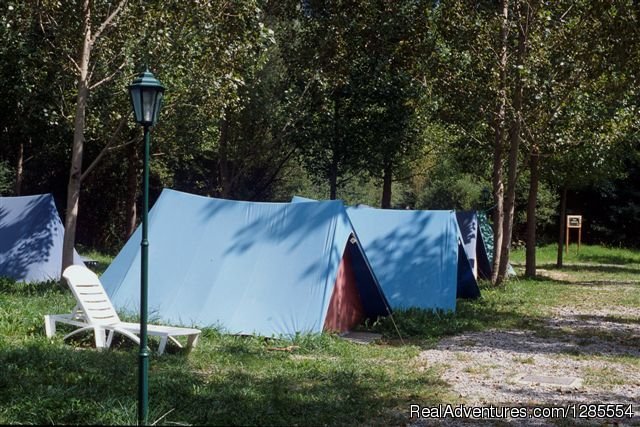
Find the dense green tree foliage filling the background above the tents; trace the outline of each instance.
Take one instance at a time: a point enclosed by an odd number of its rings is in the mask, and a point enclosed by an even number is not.
[[[115,3],[90,3],[97,29]],[[53,193],[63,215],[82,5],[9,1],[0,14],[0,192],[10,193],[23,150],[23,194]],[[557,187],[604,193],[638,151],[637,8],[531,6],[526,61],[509,63],[507,84],[517,76],[525,85],[520,160],[534,147],[542,153],[546,227]],[[152,136],[152,202],[172,187],[378,206],[387,174],[393,207],[479,207],[500,89],[498,12],[495,2],[129,1],[91,53],[91,82],[102,83],[88,101],[85,168],[126,123],[82,183],[78,242],[117,251],[127,201],[139,204],[142,135],[128,119],[126,87],[145,65],[167,87]],[[522,212],[528,191],[518,185]],[[599,239],[620,241],[621,218],[635,221],[627,197],[618,192],[616,218],[599,220]],[[625,227],[622,241],[634,230]]]

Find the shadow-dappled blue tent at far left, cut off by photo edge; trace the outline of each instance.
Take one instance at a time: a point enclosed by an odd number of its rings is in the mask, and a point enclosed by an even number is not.
[[[0,276],[59,280],[64,227],[51,194],[0,197]],[[82,264],[74,252],[74,263]]]

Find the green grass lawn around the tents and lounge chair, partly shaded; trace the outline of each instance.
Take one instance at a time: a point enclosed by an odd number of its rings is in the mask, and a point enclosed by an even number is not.
[[[542,263],[552,260],[546,251]],[[596,264],[593,269],[609,280],[640,273],[639,252],[583,246],[580,257],[566,262]],[[630,271],[619,275],[609,265]],[[581,274],[577,270],[568,274]],[[407,310],[395,313],[395,324],[387,318],[367,325],[383,333],[374,345],[331,335],[290,342],[207,329],[190,354],[169,349],[152,356],[149,418],[163,425],[405,424],[410,403],[457,403],[440,372],[416,362],[441,337],[488,328],[544,333],[542,321],[554,307],[637,308],[639,290],[627,285],[602,301],[601,292],[581,282],[515,279],[499,289],[483,283],[482,297],[459,301],[454,314]],[[43,316],[73,306],[70,292],[57,283],[0,279],[1,424],[136,422],[137,347],[119,340],[98,352],[90,335],[67,342],[45,337]]]

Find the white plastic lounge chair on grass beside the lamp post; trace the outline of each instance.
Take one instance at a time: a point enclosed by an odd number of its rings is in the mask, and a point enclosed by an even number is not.
[[[79,328],[64,336],[67,339],[72,335],[93,329],[96,340],[96,348],[104,349],[111,346],[113,335],[118,332],[129,337],[136,344],[140,344],[140,339],[136,334],[140,334],[139,323],[122,322],[118,313],[111,304],[109,296],[104,291],[102,283],[96,274],[87,267],[72,265],[67,267],[62,273],[62,277],[67,280],[73,295],[78,304],[71,314],[48,314],[44,316],[45,332],[51,338],[56,333],[56,323],[65,323],[78,326]],[[106,332],[109,332],[106,334]],[[182,344],[174,337],[186,336],[187,348],[191,349],[198,343],[200,330],[191,328],[178,328],[173,326],[147,325],[149,336],[160,337],[158,354],[162,354],[170,339],[180,348]]]

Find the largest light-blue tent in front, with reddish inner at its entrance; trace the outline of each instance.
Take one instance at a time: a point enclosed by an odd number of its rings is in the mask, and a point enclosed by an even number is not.
[[[255,203],[163,190],[149,213],[149,313],[172,324],[290,336],[390,313],[341,202]],[[139,310],[140,230],[102,275]]]

